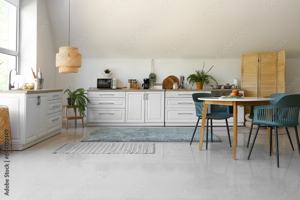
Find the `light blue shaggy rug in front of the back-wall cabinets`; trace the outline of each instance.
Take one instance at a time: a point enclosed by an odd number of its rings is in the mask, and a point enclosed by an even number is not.
[[[201,127],[197,127],[193,142],[199,142],[200,130]],[[193,132],[193,127],[100,127],[81,142],[190,142]],[[210,135],[208,130],[208,142]],[[212,136],[213,142],[221,142]],[[206,129],[203,142],[206,142]]]

